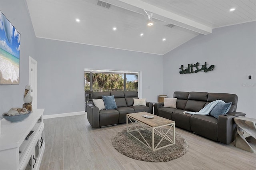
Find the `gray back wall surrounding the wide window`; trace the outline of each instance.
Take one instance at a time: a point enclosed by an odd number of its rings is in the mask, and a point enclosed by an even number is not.
[[[162,94],[162,55],[37,38],[38,108],[44,115],[84,111],[84,69],[142,71],[142,97]],[[148,86],[150,87],[148,89]]]

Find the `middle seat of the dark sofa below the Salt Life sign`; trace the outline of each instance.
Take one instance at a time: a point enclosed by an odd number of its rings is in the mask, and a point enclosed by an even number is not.
[[[189,113],[184,114],[184,110],[177,109],[172,112],[172,120],[175,121],[175,126],[191,131]]]

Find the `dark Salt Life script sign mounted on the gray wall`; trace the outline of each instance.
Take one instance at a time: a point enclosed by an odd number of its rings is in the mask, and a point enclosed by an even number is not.
[[[201,66],[201,68],[199,68]],[[197,62],[196,64],[188,64],[188,67],[184,67],[184,65],[180,66],[180,74],[188,74],[188,73],[198,73],[199,71],[204,71],[207,73],[208,71],[212,71],[214,69],[215,65],[210,65],[207,68],[206,62],[204,62],[204,65],[199,65]]]

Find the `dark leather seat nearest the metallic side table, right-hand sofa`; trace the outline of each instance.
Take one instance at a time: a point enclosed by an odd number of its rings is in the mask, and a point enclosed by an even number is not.
[[[217,138],[218,119],[206,115],[192,115],[190,117],[191,131],[206,138],[218,141]]]

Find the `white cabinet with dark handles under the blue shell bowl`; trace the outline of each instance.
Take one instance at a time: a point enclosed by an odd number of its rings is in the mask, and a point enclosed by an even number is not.
[[[36,170],[44,153],[44,109],[34,109],[22,122],[1,120],[0,170]],[[26,136],[34,131],[28,139]]]

